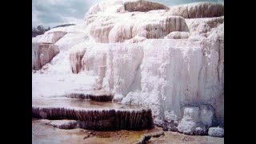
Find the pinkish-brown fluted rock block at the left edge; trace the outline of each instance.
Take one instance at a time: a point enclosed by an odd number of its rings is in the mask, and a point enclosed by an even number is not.
[[[58,46],[51,43],[32,43],[32,69],[40,70],[59,53]]]

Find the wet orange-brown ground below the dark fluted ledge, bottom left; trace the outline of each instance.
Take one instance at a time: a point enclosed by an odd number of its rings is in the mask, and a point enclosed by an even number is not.
[[[63,130],[46,125],[49,120],[32,119],[32,143],[143,143],[163,134],[162,128],[152,130],[96,131]]]

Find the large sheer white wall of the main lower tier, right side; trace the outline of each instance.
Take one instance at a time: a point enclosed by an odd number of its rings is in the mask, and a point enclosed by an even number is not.
[[[208,38],[98,43],[86,51],[83,70],[98,74],[98,66],[106,66],[102,89],[114,92],[114,99],[150,106],[155,120],[165,119],[167,129],[206,134],[213,122],[224,118],[222,26],[210,30]],[[187,117],[183,106],[191,105],[198,112]],[[162,125],[160,121],[155,122]]]

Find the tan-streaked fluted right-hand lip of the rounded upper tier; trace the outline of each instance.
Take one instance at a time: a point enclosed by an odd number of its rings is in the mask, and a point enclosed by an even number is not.
[[[140,20],[139,20],[140,21]],[[145,38],[161,38],[172,31],[186,31],[186,23],[182,17],[160,17],[158,19],[145,19],[144,22],[122,22],[114,25],[110,30],[110,42],[123,42],[136,35]]]

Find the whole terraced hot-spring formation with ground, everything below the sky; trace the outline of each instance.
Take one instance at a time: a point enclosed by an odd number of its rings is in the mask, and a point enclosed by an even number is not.
[[[102,0],[32,38],[32,126],[33,143],[223,143],[224,3]]]

